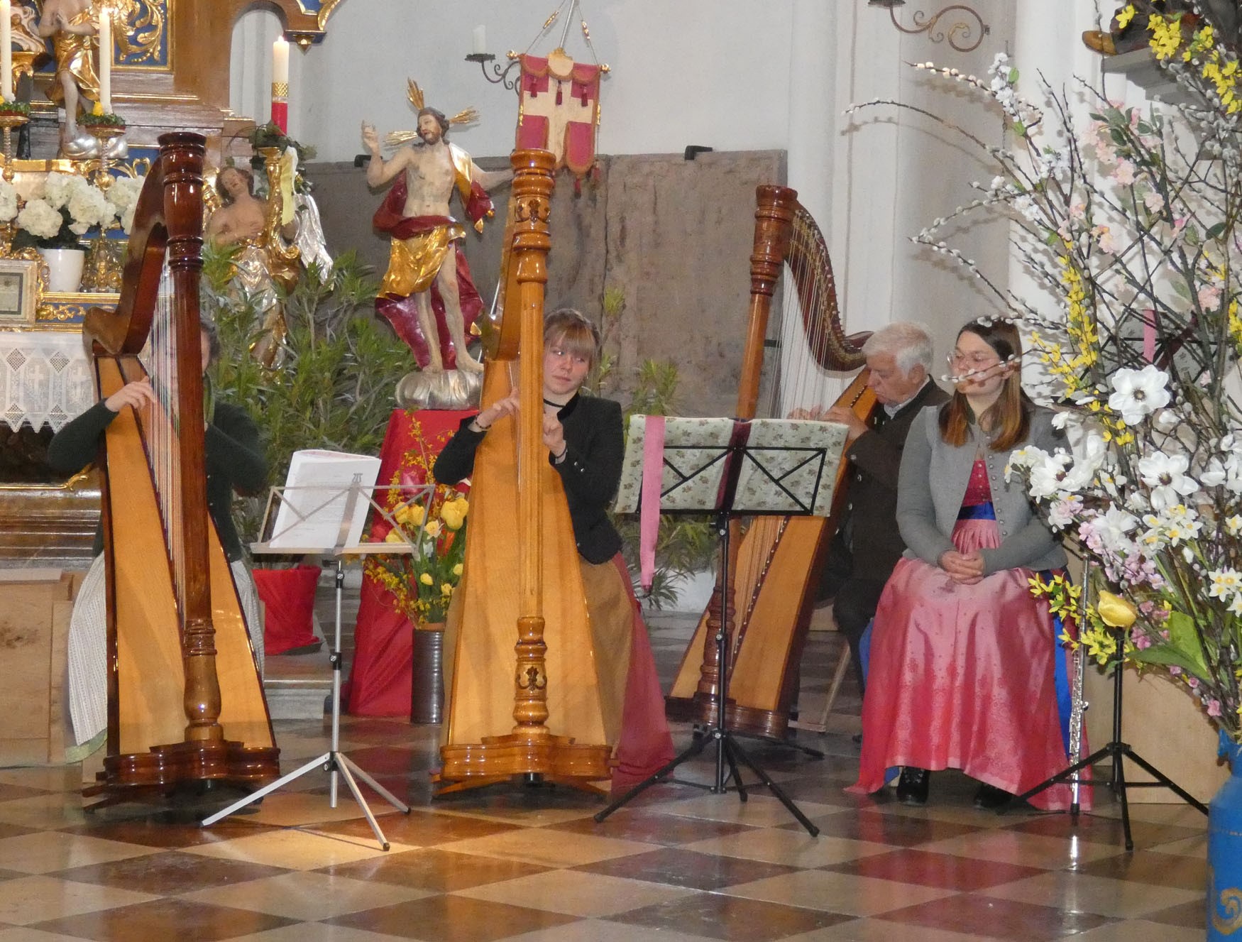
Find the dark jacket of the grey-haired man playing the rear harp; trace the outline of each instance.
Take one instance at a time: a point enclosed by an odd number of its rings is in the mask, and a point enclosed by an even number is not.
[[[888,418],[877,406],[878,428],[859,435],[846,449],[853,473],[848,501],[850,548],[854,578],[884,582],[905,549],[897,529],[897,478],[902,470],[902,450],[910,423],[929,405],[949,401],[949,394],[928,382],[919,394]]]

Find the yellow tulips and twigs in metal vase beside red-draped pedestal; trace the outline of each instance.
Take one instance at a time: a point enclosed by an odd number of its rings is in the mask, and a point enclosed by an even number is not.
[[[414,435],[422,430],[414,423]],[[427,483],[435,456],[409,451],[394,471],[385,498],[390,519],[371,527],[373,541],[410,543],[409,554],[373,556],[364,570],[392,595],[395,608],[416,628],[440,625],[461,582],[466,558],[466,514],[469,501],[457,487]],[[410,495],[414,495],[412,497]]]

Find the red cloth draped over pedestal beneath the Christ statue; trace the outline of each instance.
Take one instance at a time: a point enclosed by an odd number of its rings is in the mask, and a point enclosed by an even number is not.
[[[401,409],[389,418],[384,449],[380,452],[378,481],[389,483],[401,469],[401,460],[412,450],[426,450],[427,464],[457,431],[461,420],[474,410],[409,413]],[[421,437],[415,428],[421,428]],[[402,482],[424,483],[417,469],[402,476]],[[384,529],[386,524],[375,529]],[[380,537],[383,538],[383,537]],[[354,662],[349,681],[342,687],[342,703],[354,716],[410,716],[410,675],[414,625],[392,608],[392,597],[374,579],[363,577],[358,623],[354,626]]]

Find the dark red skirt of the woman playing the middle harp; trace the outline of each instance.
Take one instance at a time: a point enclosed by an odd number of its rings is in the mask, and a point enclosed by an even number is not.
[[[612,563],[621,572],[633,606],[633,636],[626,674],[625,706],[621,708],[621,738],[616,748],[616,768],[612,769],[612,792],[620,795],[673,761],[673,737],[668,732],[664,695],[660,690],[656,659],[651,652],[642,609],[633,597],[630,570],[620,553],[612,557]]]

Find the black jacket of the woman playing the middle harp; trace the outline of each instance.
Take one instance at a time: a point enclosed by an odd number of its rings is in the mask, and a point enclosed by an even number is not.
[[[473,431],[463,419],[445,445],[432,473],[440,483],[455,485],[474,470],[474,450],[487,432]],[[621,406],[611,399],[575,395],[560,410],[565,428],[565,460],[551,461],[565,486],[574,542],[589,563],[606,563],[621,549],[621,534],[606,512],[621,481],[625,437]]]

